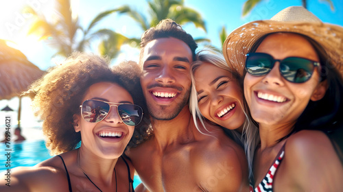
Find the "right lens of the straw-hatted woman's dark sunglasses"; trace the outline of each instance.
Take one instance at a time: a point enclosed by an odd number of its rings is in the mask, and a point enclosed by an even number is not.
[[[287,81],[302,83],[311,77],[314,64],[304,58],[285,58],[280,64],[280,72]]]

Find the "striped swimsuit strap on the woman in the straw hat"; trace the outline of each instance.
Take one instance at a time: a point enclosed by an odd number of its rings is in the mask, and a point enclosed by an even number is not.
[[[276,173],[277,168],[279,167],[281,161],[283,160],[283,156],[285,155],[285,145],[281,148],[279,154],[276,156],[276,160],[273,165],[270,167],[268,173],[265,175],[263,180],[259,183],[259,185],[255,188],[255,192],[270,192],[273,191],[273,179]],[[252,192],[252,186],[250,184],[250,192]]]

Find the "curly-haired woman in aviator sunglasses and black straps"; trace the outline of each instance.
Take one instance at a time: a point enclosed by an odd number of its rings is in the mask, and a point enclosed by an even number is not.
[[[110,69],[104,58],[73,53],[35,82],[32,104],[57,156],[14,168],[0,191],[134,191],[121,154],[143,117],[139,73],[135,62]]]

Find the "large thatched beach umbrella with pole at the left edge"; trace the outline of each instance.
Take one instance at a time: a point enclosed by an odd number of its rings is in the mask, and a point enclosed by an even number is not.
[[[19,97],[18,126],[21,119],[21,93],[29,84],[43,75],[36,65],[29,62],[21,51],[9,47],[0,39],[0,99]]]

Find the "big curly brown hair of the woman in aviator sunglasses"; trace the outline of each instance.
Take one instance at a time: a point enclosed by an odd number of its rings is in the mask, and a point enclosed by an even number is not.
[[[34,82],[27,93],[35,95],[32,107],[35,115],[44,120],[43,134],[50,154],[71,151],[80,143],[80,132],[73,128],[73,115],[80,113],[84,93],[92,84],[119,84],[132,95],[134,104],[142,106],[143,110],[146,108],[139,81],[141,69],[136,62],[122,62],[111,69],[106,58],[91,53],[73,53],[63,64],[48,72]],[[139,141],[148,136],[149,122],[147,117],[144,119],[145,134],[141,134]]]

